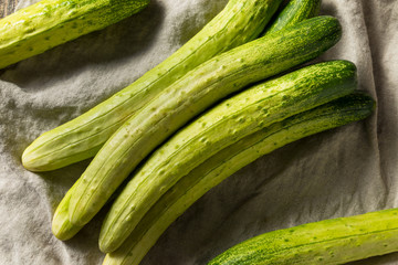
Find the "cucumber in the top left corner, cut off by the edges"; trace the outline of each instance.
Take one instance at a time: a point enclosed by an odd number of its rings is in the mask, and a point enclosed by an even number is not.
[[[42,0],[0,20],[0,68],[139,12],[149,0]]]

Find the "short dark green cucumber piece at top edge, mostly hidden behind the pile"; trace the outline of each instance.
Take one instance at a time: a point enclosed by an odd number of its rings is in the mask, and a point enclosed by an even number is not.
[[[265,35],[311,19],[320,13],[322,0],[291,0],[266,29]]]

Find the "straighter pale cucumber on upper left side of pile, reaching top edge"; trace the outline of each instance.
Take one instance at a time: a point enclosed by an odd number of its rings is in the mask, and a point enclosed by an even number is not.
[[[197,35],[132,85],[87,113],[35,139],[23,152],[31,171],[49,171],[91,158],[135,112],[202,62],[254,40],[282,0],[230,0]]]

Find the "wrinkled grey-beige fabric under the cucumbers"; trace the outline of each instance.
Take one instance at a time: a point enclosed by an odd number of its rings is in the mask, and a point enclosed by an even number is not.
[[[139,14],[0,71],[0,264],[102,263],[106,209],[67,242],[51,233],[57,203],[88,161],[33,173],[20,157],[39,135],[160,63],[226,3],[153,0]],[[354,62],[359,89],[377,99],[374,115],[241,169],[184,213],[142,264],[206,264],[268,231],[398,206],[398,1],[324,0],[322,14],[338,18],[344,34],[316,61]],[[398,254],[353,264],[398,264]]]

